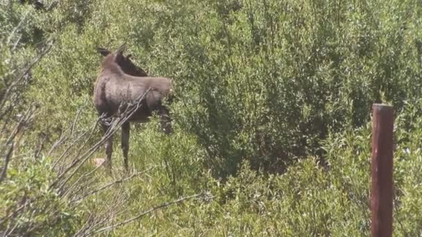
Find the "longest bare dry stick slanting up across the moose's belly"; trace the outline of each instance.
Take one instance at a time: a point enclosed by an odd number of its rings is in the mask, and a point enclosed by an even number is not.
[[[87,161],[87,159],[89,159],[90,157],[91,157],[91,155],[92,154],[94,154],[94,152],[96,152],[96,150],[98,150],[98,148],[99,148],[99,146],[101,146],[103,143],[104,143],[104,141],[106,141],[107,139],[109,139],[111,136],[112,136],[112,134],[115,134],[115,132],[117,131],[117,129],[118,128],[120,128],[121,127],[121,125],[123,125],[124,123],[126,123],[126,121],[128,121],[128,119],[130,118],[130,116],[132,116],[136,111],[137,111],[137,109],[139,109],[139,107],[140,107],[140,105],[141,105],[141,102],[142,102],[142,100],[144,99],[144,97],[145,97],[145,95],[150,91],[150,89],[151,88],[149,88],[148,90],[146,90],[145,91],[145,93],[144,94],[142,94],[141,96],[139,96],[138,98],[137,98],[137,106],[135,107],[135,108],[133,108],[133,109],[126,109],[126,111],[124,112],[124,119],[122,119],[122,121],[120,122],[120,121],[117,121],[117,124],[112,124],[112,126],[110,126],[110,129],[108,129],[108,132],[107,132],[107,134],[105,134],[105,136],[103,136],[103,138],[98,142],[98,143],[96,143],[92,148],[90,148],[89,150],[87,150],[87,152],[85,152],[83,155],[82,155],[82,157],[83,158],[81,158],[81,159],[78,159],[77,160],[77,162],[78,161],[82,161],[81,162],[81,164],[79,164],[77,167],[76,167],[76,169],[71,173],[71,175],[69,175],[69,177],[67,177],[67,179],[65,179],[65,181],[62,183],[62,185],[58,188],[59,189],[59,192],[60,192],[60,190],[65,186],[65,184],[67,183],[67,182],[69,182],[69,179],[71,178],[71,177],[73,177],[73,175],[76,173],[76,171],[78,171],[79,170],[79,168],[81,168],[81,166],[85,163],[85,161]],[[128,107],[129,108],[129,107]],[[119,123],[120,122],[120,123]],[[116,128],[114,128],[114,127],[116,127]],[[114,130],[112,130],[112,129],[114,129]],[[76,163],[77,163],[76,162]],[[71,168],[74,168],[74,166],[76,165],[76,163],[75,164],[72,164],[71,166],[69,166],[65,171],[63,171],[63,173],[61,173],[60,175],[58,175],[58,177],[57,177],[57,179],[56,179],[56,181],[54,181],[50,186],[49,186],[49,188],[52,188],[54,185],[56,185],[57,184],[57,182],[66,174],[66,173],[68,173],[69,172],[69,170],[71,170]]]

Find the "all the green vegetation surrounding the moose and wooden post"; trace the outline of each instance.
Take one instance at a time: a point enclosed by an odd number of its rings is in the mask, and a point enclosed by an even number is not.
[[[388,103],[394,236],[422,235],[422,1],[3,0],[0,37],[0,232],[369,236]],[[109,175],[96,47],[123,43],[173,78],[174,134],[133,125]]]

